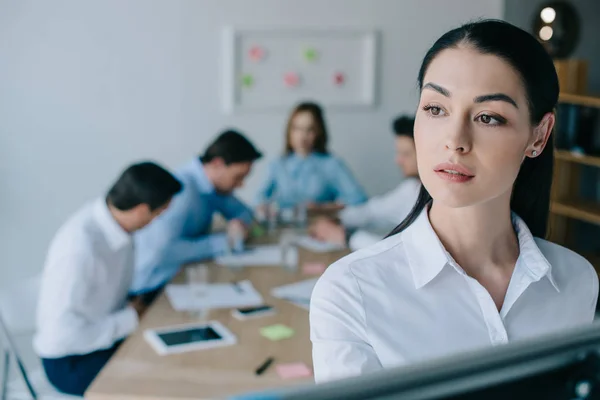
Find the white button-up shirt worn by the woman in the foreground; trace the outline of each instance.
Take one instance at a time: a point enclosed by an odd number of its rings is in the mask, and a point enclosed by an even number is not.
[[[316,381],[591,323],[598,276],[590,263],[533,238],[516,215],[513,226],[520,254],[500,312],[445,251],[426,210],[400,234],[334,263],[310,305]]]

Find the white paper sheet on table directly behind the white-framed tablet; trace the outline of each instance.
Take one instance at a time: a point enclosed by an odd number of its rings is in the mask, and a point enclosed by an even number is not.
[[[213,283],[207,285],[203,295],[194,295],[190,285],[167,285],[165,293],[176,311],[193,311],[212,308],[259,306],[264,303],[252,282]]]

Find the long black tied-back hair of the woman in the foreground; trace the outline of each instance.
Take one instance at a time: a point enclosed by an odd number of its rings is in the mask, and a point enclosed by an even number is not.
[[[532,125],[539,124],[546,113],[553,112],[558,101],[559,87],[552,59],[533,36],[504,21],[472,22],[440,37],[423,59],[419,70],[419,89],[423,88],[423,78],[433,59],[441,51],[456,48],[460,44],[475,48],[482,54],[493,54],[512,65],[525,87]],[[511,209],[525,221],[531,233],[542,238],[546,237],[550,212],[554,164],[552,136],[551,134],[546,148],[539,156],[526,157],[523,161],[510,201]],[[431,195],[421,186],[412,211],[388,236],[410,226],[431,201]]]

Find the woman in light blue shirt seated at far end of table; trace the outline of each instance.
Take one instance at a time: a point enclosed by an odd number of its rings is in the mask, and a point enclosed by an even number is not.
[[[327,150],[327,128],[318,104],[301,103],[288,120],[285,154],[273,161],[257,202],[281,207],[341,208],[367,199],[348,167]]]

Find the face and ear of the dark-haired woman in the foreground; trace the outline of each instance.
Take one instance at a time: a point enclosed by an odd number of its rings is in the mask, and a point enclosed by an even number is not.
[[[421,181],[447,207],[510,201],[524,157],[541,153],[553,123],[547,114],[531,125],[510,64],[468,46],[444,50],[425,74],[415,120]]]

